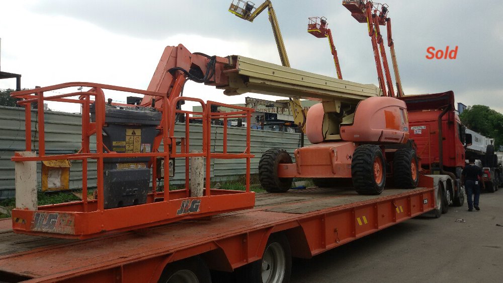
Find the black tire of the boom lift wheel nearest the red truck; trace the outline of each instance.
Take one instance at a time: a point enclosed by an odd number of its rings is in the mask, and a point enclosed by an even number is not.
[[[412,162],[415,164],[415,178],[412,178]],[[413,189],[419,183],[419,161],[413,149],[399,149],[393,156],[393,180],[395,186]]]

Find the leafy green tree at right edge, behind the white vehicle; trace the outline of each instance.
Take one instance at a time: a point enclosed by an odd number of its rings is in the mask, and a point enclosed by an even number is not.
[[[467,128],[494,138],[494,148],[503,146],[503,114],[485,105],[473,105],[468,106],[459,118]]]

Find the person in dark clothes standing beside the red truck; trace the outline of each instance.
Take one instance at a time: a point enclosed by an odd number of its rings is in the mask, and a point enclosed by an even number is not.
[[[469,159],[468,165],[461,172],[461,185],[465,185],[466,196],[468,197],[468,211],[472,211],[473,207],[480,210],[478,200],[480,198],[480,184],[485,189],[484,179],[482,178],[482,169],[475,165],[475,159]],[[473,199],[472,199],[473,194]]]

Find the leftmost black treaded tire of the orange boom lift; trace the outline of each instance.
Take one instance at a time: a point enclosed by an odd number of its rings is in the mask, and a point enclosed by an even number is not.
[[[266,151],[259,161],[259,180],[268,192],[286,192],[292,187],[293,178],[279,178],[278,164],[292,163],[292,157],[280,149]]]

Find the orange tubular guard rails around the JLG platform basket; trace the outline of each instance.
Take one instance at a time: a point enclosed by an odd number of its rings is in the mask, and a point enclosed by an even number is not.
[[[54,92],[56,90],[61,90],[69,87],[89,87],[88,91],[84,92],[70,92],[66,94],[47,96],[47,92]],[[150,95],[156,97],[156,101],[162,100],[162,106],[156,108],[157,111],[162,113],[162,119],[157,128],[160,130],[159,135],[156,137],[157,143],[154,142],[153,149],[150,153],[117,153],[110,151],[104,143],[102,130],[105,125],[105,94],[104,90],[119,91],[123,93],[135,93],[140,95]],[[229,119],[245,118],[246,121],[250,121],[251,112],[253,109],[227,105],[217,102],[208,102],[205,104],[204,101],[197,98],[189,97],[177,97],[170,101],[169,98],[164,93],[137,90],[132,88],[117,87],[111,85],[95,84],[95,83],[64,83],[49,87],[36,88],[33,90],[26,90],[15,92],[12,97],[22,99],[18,101],[19,105],[25,106],[25,119],[26,119],[26,151],[32,151],[32,129],[31,129],[31,104],[37,103],[38,109],[38,119],[37,119],[37,129],[38,129],[38,156],[37,157],[21,157],[15,156],[12,158],[13,161],[44,161],[44,160],[57,160],[57,159],[68,159],[68,160],[81,160],[82,162],[82,201],[72,202],[71,208],[63,208],[65,211],[95,211],[104,210],[104,159],[107,158],[140,158],[140,157],[150,157],[151,162],[149,165],[153,168],[152,170],[152,190],[148,194],[147,203],[158,202],[158,201],[169,201],[170,200],[170,187],[169,181],[164,181],[163,192],[159,191],[156,184],[157,176],[160,172],[157,172],[156,162],[157,157],[164,159],[164,164],[169,164],[170,158],[185,158],[185,189],[172,191],[175,195],[171,199],[178,199],[189,197],[189,158],[190,157],[204,157],[206,159],[206,190],[205,196],[211,196],[211,176],[210,176],[210,166],[211,159],[246,159],[246,192],[249,192],[249,179],[250,179],[250,159],[254,156],[250,154],[250,129],[247,127],[246,130],[246,145],[243,153],[231,154],[227,152],[227,122]],[[75,99],[74,97],[78,97]],[[94,100],[91,99],[94,97]],[[187,111],[176,109],[176,106],[180,100],[197,102],[202,106],[201,112]],[[75,154],[64,154],[64,155],[46,155],[45,153],[45,127],[44,127],[44,106],[45,101],[56,101],[56,102],[66,102],[66,103],[77,103],[81,105],[82,109],[82,142],[81,148]],[[96,109],[96,119],[95,122],[91,122],[90,118],[90,105],[95,104]],[[127,106],[132,105],[113,103],[116,106]],[[159,105],[159,104],[156,104]],[[211,113],[211,106],[223,106],[227,108],[234,108],[238,110],[237,112],[228,113]],[[180,138],[180,151],[177,151],[177,139],[175,136],[175,122],[176,115],[185,115],[185,137]],[[221,153],[211,152],[211,120],[223,119],[223,151]],[[202,120],[203,128],[203,143],[202,152],[191,153],[189,146],[189,135],[190,135],[190,121]],[[97,134],[99,133],[99,134]],[[90,149],[90,138],[91,136],[96,136],[96,153],[93,153]],[[160,141],[163,142],[163,151],[159,152],[158,148]],[[88,195],[88,159],[97,160],[97,200],[87,199]],[[169,166],[164,166],[164,178],[169,178]],[[229,191],[230,192],[230,191]],[[160,199],[162,198],[162,199]],[[97,202],[97,203],[96,203]],[[76,203],[81,203],[81,209],[76,207]],[[61,206],[61,205],[58,205]]]

